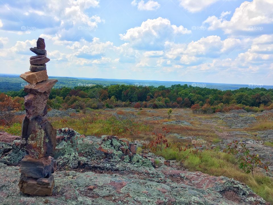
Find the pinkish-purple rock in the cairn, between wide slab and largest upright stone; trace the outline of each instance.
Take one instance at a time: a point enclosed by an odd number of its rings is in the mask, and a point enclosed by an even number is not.
[[[27,118],[34,118],[44,115],[44,109],[46,107],[49,93],[29,93],[24,97],[24,106],[26,110]]]

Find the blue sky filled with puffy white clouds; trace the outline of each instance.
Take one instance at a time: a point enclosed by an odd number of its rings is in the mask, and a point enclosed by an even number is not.
[[[0,73],[273,85],[273,1],[0,2]]]

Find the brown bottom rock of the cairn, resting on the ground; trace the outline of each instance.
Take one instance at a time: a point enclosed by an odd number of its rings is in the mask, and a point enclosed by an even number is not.
[[[24,194],[51,196],[54,187],[54,177],[36,179],[21,174],[19,188]]]

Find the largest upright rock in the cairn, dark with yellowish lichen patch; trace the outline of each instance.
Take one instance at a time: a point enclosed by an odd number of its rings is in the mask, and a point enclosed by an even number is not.
[[[56,130],[46,117],[24,118],[20,147],[24,146],[28,154],[35,159],[53,154],[56,147]]]

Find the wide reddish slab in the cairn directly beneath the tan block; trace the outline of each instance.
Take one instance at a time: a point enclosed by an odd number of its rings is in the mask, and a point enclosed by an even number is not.
[[[56,79],[47,79],[40,83],[36,84],[29,84],[24,87],[24,91],[26,93],[32,93],[34,95],[38,95],[40,93],[50,93],[51,88],[57,83],[58,80]]]

